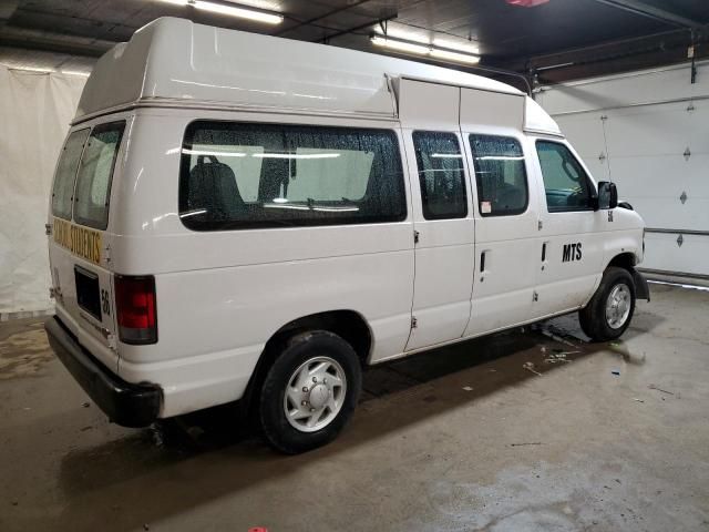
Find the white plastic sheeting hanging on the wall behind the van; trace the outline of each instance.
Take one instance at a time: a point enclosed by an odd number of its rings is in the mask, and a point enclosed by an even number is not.
[[[0,315],[52,306],[49,191],[85,81],[0,65]]]

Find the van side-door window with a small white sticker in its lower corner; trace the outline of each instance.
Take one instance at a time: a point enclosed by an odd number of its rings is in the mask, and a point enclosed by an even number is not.
[[[470,135],[481,216],[522,214],[527,208],[527,174],[520,141]]]

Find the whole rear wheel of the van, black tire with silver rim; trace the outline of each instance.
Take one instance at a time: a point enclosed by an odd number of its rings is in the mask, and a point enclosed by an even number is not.
[[[352,417],[361,381],[357,354],[339,336],[326,330],[292,336],[261,387],[264,436],[288,454],[330,442]]]

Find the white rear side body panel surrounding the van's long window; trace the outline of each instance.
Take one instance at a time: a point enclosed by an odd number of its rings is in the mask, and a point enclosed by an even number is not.
[[[193,116],[141,111],[133,127],[133,157],[119,191],[114,268],[155,276],[158,342],[121,344],[121,378],[160,383],[162,417],[232,401],[280,327],[328,310],[353,310],[367,320],[372,361],[403,351],[413,294],[411,213],[395,223],[191,231],[177,204],[179,147]],[[199,117],[264,120],[207,112]],[[362,125],[372,126],[389,130]],[[399,132],[397,141],[401,145]],[[404,182],[410,205],[405,168]]]

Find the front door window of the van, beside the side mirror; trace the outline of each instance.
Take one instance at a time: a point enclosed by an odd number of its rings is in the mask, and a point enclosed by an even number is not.
[[[588,176],[568,147],[558,142],[537,141],[536,153],[549,213],[593,208]]]

